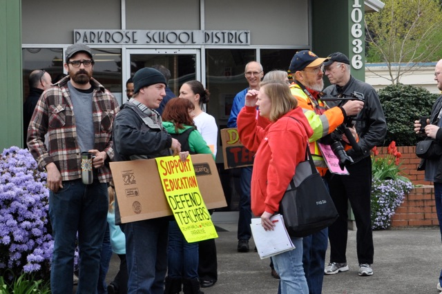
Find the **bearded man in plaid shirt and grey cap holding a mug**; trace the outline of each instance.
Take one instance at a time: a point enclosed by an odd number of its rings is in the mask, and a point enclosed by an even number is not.
[[[45,90],[28,128],[28,147],[48,174],[49,216],[54,238],[52,293],[73,293],[75,239],[79,244],[78,293],[95,293],[108,212],[108,161],[113,158],[111,92],[93,79],[95,61],[84,44],[66,49],[68,76]],[[48,146],[44,136],[48,133]],[[92,153],[93,183],[81,180],[81,153]],[[84,166],[86,168],[86,166]]]

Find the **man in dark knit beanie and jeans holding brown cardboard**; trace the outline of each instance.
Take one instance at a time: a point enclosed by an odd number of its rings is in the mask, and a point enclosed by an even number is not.
[[[166,79],[153,68],[142,68],[133,76],[133,97],[122,106],[113,125],[114,161],[151,159],[180,155],[181,145],[162,127],[155,108],[166,95]],[[115,224],[121,224],[118,195]],[[126,237],[128,293],[163,293],[167,266],[169,217],[121,224]]]

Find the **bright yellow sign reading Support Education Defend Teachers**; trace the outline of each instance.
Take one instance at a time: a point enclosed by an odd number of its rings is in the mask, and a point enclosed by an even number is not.
[[[218,237],[201,197],[191,157],[184,162],[177,156],[155,160],[167,202],[186,241],[192,243]]]

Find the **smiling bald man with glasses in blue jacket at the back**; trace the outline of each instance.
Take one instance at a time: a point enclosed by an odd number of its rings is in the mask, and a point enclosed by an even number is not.
[[[236,128],[236,118],[240,113],[241,108],[244,107],[245,97],[248,90],[259,90],[260,82],[264,77],[264,71],[262,65],[257,61],[250,61],[246,64],[244,70],[244,77],[249,83],[249,87],[245,88],[241,92],[236,94],[233,98],[233,105],[230,112],[229,120],[227,121],[227,127]],[[257,110],[258,111],[258,110]],[[260,115],[257,116],[258,119]],[[261,118],[262,120],[262,118]],[[252,166],[246,166],[239,168],[240,178],[235,182],[235,188],[240,194],[240,203],[238,204],[238,210],[240,217],[238,219],[238,252],[249,252],[249,239],[251,237],[251,206],[250,206],[250,182]]]

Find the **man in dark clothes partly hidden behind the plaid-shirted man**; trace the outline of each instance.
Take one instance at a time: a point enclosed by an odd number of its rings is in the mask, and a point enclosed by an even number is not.
[[[41,93],[52,85],[49,72],[46,70],[34,70],[29,75],[29,95],[23,104],[23,145],[28,148],[26,144],[26,137],[28,136],[28,126],[32,113],[34,113],[35,106],[39,100]]]

